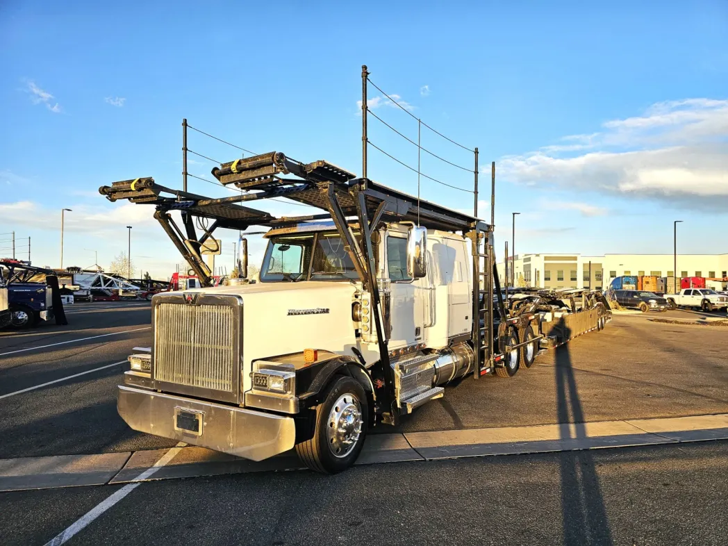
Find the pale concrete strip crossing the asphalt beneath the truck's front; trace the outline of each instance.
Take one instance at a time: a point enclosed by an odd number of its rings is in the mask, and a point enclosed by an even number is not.
[[[520,455],[596,448],[728,439],[728,414],[630,419],[532,427],[440,430],[379,434],[367,438],[359,464]],[[178,454],[154,473],[154,480],[199,476],[301,470],[293,451],[263,462],[221,454],[196,446]],[[170,451],[60,455],[0,460],[0,491],[130,483]],[[142,480],[147,481],[147,480]]]

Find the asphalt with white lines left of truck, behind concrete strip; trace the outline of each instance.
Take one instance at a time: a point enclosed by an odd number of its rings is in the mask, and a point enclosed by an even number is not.
[[[151,345],[151,327],[148,302],[113,303],[74,307],[89,312],[69,316],[66,327],[3,332],[0,413],[12,419],[0,419],[0,459],[170,445],[130,430],[116,413],[127,356]]]

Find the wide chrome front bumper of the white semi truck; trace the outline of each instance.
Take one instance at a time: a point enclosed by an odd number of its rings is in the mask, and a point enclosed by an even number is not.
[[[175,409],[202,413],[202,434],[175,428]],[[134,430],[222,451],[252,461],[293,448],[296,427],[291,417],[165,395],[119,385],[116,409]]]

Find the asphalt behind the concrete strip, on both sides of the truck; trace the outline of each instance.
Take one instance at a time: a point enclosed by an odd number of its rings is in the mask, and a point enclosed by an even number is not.
[[[545,352],[512,379],[464,379],[398,427],[372,432],[727,412],[728,330],[649,320],[667,314],[615,316],[605,331]],[[127,355],[151,345],[150,318],[147,302],[79,303],[68,309],[68,326],[0,332],[0,412],[13,416],[0,420],[0,459],[174,446],[130,430],[116,414]],[[91,373],[1,398],[84,371]]]

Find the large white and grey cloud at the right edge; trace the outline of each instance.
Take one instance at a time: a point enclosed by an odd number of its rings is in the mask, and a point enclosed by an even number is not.
[[[600,132],[502,160],[507,180],[725,210],[728,205],[728,100],[656,103]],[[578,152],[581,152],[579,154]],[[583,212],[583,211],[582,211]]]

